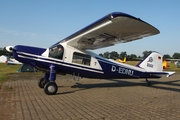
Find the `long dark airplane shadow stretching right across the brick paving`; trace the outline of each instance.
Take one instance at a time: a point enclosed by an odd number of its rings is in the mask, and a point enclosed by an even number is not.
[[[78,90],[63,92],[63,93],[57,93],[57,94],[70,94],[77,91],[92,89],[92,88],[108,88],[108,87],[129,87],[129,86],[144,86],[144,87],[150,87],[155,89],[162,89],[162,90],[168,90],[168,91],[174,91],[174,92],[180,92],[180,80],[173,80],[173,81],[155,81],[155,80],[149,80],[151,82],[151,86],[148,86],[146,81],[144,79],[143,82],[132,82],[132,81],[124,81],[124,80],[116,80],[116,79],[106,79],[108,83],[93,83],[93,84],[81,84],[76,83],[75,85],[71,86],[71,88],[79,88]],[[166,85],[166,86],[162,86]],[[176,87],[176,88],[175,88]],[[177,88],[179,87],[179,88]]]

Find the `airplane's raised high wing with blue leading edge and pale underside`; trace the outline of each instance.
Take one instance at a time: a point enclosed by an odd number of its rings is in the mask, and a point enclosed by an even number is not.
[[[139,18],[121,12],[114,12],[56,44],[67,43],[67,45],[78,49],[94,50],[158,33],[160,33],[158,29]]]

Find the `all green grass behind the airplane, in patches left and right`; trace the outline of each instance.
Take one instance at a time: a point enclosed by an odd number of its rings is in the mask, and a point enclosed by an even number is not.
[[[127,61],[126,64],[130,64],[135,66],[138,64],[138,61]],[[8,77],[8,74],[17,73],[17,70],[20,68],[21,65],[7,65],[5,63],[0,63],[0,88],[3,81],[5,81]],[[164,71],[175,71],[176,73],[180,73],[180,68],[174,63],[168,63],[168,68]]]

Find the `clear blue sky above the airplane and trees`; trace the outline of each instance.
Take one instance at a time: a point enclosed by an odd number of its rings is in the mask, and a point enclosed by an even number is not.
[[[0,47],[48,48],[112,12],[124,12],[160,34],[94,50],[142,56],[143,51],[180,53],[179,0],[0,0]]]

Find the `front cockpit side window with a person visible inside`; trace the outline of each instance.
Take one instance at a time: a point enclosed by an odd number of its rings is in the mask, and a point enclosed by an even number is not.
[[[49,50],[49,57],[62,59],[64,53],[64,48],[62,45],[57,45]]]

